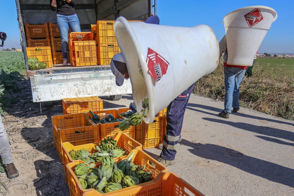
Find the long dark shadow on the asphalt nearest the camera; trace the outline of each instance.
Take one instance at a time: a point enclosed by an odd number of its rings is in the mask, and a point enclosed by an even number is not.
[[[182,145],[192,147],[189,149],[191,153],[198,157],[216,160],[240,170],[248,172],[268,179],[273,182],[278,182],[283,185],[294,187],[294,169],[283,167],[281,165],[271,163],[258,158],[243,155],[238,151],[232,153],[232,149],[214,144],[194,144],[183,139]]]

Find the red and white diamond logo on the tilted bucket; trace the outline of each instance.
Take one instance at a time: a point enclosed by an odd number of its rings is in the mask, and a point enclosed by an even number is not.
[[[146,62],[149,74],[158,83],[166,74],[169,63],[151,48],[148,48]]]

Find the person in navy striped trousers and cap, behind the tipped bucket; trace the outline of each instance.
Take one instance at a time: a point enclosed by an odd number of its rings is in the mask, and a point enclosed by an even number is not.
[[[150,16],[145,23],[159,24],[158,16]],[[126,62],[121,53],[113,56],[111,63],[111,71],[116,76],[116,85],[122,86],[124,79],[128,79],[128,70]],[[167,107],[166,113],[166,134],[163,138],[163,143],[158,147],[162,150],[157,161],[164,166],[173,165],[176,157],[176,147],[181,139],[181,130],[183,126],[184,113],[188,104],[188,100],[193,91],[195,83],[192,84],[186,91],[175,98]],[[137,112],[135,103],[130,104],[130,109]]]

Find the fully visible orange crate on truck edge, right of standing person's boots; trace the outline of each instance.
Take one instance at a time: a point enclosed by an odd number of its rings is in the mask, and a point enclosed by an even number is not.
[[[97,65],[96,41],[74,41],[73,66]]]

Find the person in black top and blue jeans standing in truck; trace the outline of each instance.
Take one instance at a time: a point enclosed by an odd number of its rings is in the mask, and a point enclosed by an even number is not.
[[[57,11],[57,26],[61,37],[61,50],[63,56],[62,66],[67,66],[68,58],[68,32],[69,27],[72,32],[81,32],[80,22],[76,15],[76,0],[50,0],[53,11]]]

